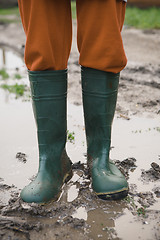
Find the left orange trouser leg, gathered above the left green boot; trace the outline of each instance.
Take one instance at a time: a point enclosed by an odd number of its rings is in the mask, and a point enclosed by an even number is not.
[[[67,68],[71,49],[70,0],[18,0],[26,34],[25,63],[29,70]]]

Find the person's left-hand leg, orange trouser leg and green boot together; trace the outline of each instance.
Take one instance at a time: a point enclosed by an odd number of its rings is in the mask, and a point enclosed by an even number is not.
[[[38,174],[22,190],[21,198],[44,203],[57,199],[64,181],[72,176],[65,151],[70,1],[19,0],[19,7],[27,37],[25,61],[39,145]]]

